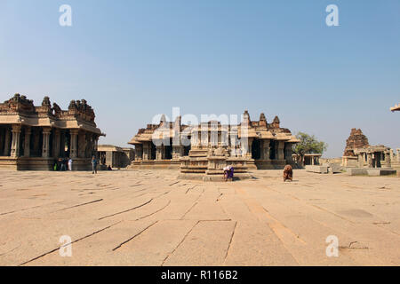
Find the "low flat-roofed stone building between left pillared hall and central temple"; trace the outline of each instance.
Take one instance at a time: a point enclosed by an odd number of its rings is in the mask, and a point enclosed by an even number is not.
[[[98,158],[101,169],[126,168],[134,160],[134,151],[132,148],[121,148],[114,145],[99,145]],[[102,167],[106,166],[106,167]]]

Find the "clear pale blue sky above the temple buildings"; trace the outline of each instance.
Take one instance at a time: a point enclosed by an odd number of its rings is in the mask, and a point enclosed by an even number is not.
[[[61,4],[72,27],[61,27]],[[339,27],[328,27],[328,4]],[[1,0],[0,100],[86,99],[127,146],[156,114],[275,115],[339,157],[351,128],[400,147],[400,1]]]

